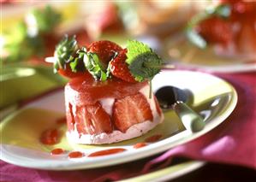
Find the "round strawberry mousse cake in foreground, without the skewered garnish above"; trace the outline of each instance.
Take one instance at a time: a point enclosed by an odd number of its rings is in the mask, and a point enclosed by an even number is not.
[[[76,144],[110,144],[139,137],[164,119],[147,82],[95,81],[91,75],[65,86],[68,139]]]

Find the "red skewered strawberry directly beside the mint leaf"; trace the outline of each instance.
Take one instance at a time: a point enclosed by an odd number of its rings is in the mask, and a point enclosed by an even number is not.
[[[125,62],[127,59],[126,56],[127,50],[122,50],[119,52],[118,56],[110,62],[110,71],[111,73],[119,79],[135,83],[133,75],[130,73],[128,64]]]

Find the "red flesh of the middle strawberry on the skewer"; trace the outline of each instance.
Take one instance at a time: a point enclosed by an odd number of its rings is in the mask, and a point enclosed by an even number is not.
[[[96,53],[102,63],[107,67],[111,59],[116,55],[116,52],[122,50],[118,44],[108,40],[93,42],[87,48],[88,52]]]

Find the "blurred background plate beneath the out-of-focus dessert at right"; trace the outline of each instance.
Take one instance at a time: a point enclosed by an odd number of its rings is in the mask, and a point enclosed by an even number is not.
[[[256,57],[217,56],[212,47],[199,49],[189,43],[183,35],[166,41],[165,59],[171,60],[177,68],[191,68],[215,73],[241,73],[256,70]]]

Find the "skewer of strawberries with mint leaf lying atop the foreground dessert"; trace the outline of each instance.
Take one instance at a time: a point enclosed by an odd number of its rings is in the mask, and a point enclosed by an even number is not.
[[[54,71],[70,79],[89,72],[99,81],[116,77],[130,83],[147,80],[150,85],[163,65],[162,59],[149,46],[137,40],[128,40],[125,49],[107,40],[94,42],[86,48],[77,44],[75,36],[68,38],[68,35],[57,44],[53,62]]]

